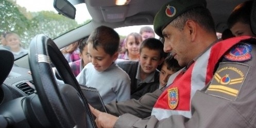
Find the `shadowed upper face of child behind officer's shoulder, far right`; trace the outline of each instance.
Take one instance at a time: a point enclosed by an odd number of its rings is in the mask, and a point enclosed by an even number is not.
[[[235,23],[234,26],[230,28],[230,30],[235,36],[242,36],[242,35],[255,36],[251,31],[250,25],[244,24],[242,22]]]

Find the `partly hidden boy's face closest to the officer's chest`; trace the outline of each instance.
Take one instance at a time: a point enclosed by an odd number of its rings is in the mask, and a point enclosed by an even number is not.
[[[164,63],[164,65],[161,68],[160,76],[159,76],[160,86],[161,87],[165,86],[165,84],[168,82],[170,75],[173,75],[174,73],[175,73],[175,71],[168,70],[167,65]]]

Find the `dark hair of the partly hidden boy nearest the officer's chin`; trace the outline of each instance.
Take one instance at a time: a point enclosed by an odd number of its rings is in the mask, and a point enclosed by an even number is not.
[[[166,67],[168,70],[173,70],[177,72],[178,70],[182,69],[176,59],[173,58],[173,56],[168,56],[164,59],[163,65],[166,64]]]

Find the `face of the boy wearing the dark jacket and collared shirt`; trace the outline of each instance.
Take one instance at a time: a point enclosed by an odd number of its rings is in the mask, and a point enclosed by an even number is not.
[[[150,74],[155,71],[158,65],[163,62],[163,58],[160,58],[160,52],[158,50],[150,50],[148,48],[142,48],[140,53],[141,69],[145,74]]]

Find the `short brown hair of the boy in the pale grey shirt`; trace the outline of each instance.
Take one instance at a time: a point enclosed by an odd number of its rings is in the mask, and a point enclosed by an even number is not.
[[[102,47],[110,56],[118,51],[120,37],[118,33],[107,26],[97,27],[89,36],[87,44],[92,43],[93,48]]]

